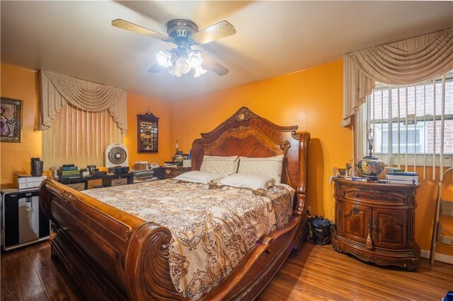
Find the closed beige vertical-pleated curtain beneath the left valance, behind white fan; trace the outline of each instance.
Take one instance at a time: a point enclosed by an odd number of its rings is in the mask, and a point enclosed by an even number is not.
[[[88,112],[65,105],[42,132],[45,170],[63,164],[104,166],[105,148],[122,140],[122,130],[108,111]]]

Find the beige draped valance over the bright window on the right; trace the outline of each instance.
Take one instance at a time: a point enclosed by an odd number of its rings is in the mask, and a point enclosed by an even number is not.
[[[453,28],[345,54],[343,120],[372,93],[376,82],[408,85],[429,81],[453,69]]]

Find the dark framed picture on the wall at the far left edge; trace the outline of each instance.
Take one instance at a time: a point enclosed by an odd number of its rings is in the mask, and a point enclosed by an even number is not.
[[[21,142],[22,100],[0,99],[1,142]]]

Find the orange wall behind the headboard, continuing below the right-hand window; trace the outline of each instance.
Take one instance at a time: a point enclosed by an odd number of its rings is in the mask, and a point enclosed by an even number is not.
[[[328,182],[332,167],[344,168],[352,156],[352,133],[340,126],[342,61],[171,103],[170,149],[178,139],[180,149],[188,151],[200,133],[211,131],[242,106],[276,124],[297,124],[299,130],[310,132],[308,205],[313,214],[333,219]],[[423,175],[423,170],[417,171]],[[432,178],[432,169],[427,169],[427,175]],[[438,183],[428,179],[421,180],[415,211],[415,240],[425,250],[430,249]],[[444,194],[451,199],[452,190]],[[438,244],[437,252],[453,254],[453,247]]]

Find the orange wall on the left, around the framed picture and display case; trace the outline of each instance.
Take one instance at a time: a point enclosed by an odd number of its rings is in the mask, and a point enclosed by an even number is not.
[[[11,187],[13,175],[30,174],[30,158],[42,158],[42,134],[35,131],[35,114],[38,107],[38,72],[15,66],[1,65],[1,96],[23,100],[23,129],[21,143],[0,143],[2,187]],[[137,153],[137,114],[149,110],[159,117],[159,153]],[[151,160],[160,165],[171,158],[168,145],[170,121],[169,104],[161,100],[127,93],[127,136],[125,146],[129,151],[129,164]],[[172,149],[173,152],[173,149]]]

